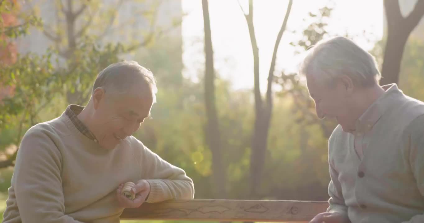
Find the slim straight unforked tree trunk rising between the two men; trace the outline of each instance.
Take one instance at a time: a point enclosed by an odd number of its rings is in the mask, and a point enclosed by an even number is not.
[[[209,21],[208,1],[202,0],[204,32],[205,32],[205,106],[206,106],[206,141],[212,152],[212,172],[215,188],[215,199],[226,198],[226,171],[222,161],[222,144],[218,125],[218,114],[215,105],[215,69],[213,60],[212,38]]]

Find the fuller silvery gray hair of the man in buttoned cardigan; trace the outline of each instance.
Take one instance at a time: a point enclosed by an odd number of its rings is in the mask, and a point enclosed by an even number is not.
[[[371,87],[381,79],[375,58],[341,36],[322,40],[313,46],[301,63],[299,73],[312,75],[327,85],[341,75],[349,76],[357,87]]]

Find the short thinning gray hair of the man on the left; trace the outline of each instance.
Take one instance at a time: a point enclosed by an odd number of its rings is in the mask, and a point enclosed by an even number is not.
[[[93,92],[98,87],[103,87],[105,92],[124,94],[140,81],[151,88],[153,102],[156,102],[157,87],[153,73],[134,60],[112,63],[100,71],[94,82]]]

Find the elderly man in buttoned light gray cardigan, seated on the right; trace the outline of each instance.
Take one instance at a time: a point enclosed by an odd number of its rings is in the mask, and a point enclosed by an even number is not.
[[[329,207],[311,223],[424,222],[424,103],[396,84],[379,86],[374,57],[343,37],[304,59],[318,117],[329,138]]]

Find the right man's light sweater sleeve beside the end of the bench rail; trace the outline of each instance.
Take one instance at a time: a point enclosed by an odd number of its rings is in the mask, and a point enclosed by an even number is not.
[[[330,183],[328,186],[328,194],[330,196],[328,202],[329,207],[327,212],[338,212],[347,218],[347,206],[342,194],[342,188],[338,180],[338,171],[335,169],[334,162],[332,161],[332,151],[338,150],[337,145],[337,128],[329,138],[329,170],[330,170]]]

